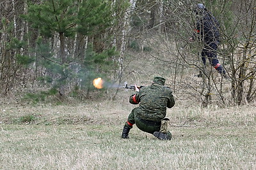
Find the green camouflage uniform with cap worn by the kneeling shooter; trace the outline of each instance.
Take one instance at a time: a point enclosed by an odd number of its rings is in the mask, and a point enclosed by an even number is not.
[[[142,87],[139,92],[130,96],[129,102],[131,104],[140,103],[140,106],[134,108],[129,114],[124,125],[122,138],[128,138],[129,130],[133,124],[136,124],[141,131],[150,134],[160,131],[161,121],[165,121],[163,119],[166,117],[166,107],[172,108],[175,104],[172,90],[169,87],[165,87],[164,82],[164,78],[157,76],[154,78],[152,85]],[[166,122],[165,125],[167,125]],[[164,133],[171,138],[170,132]]]

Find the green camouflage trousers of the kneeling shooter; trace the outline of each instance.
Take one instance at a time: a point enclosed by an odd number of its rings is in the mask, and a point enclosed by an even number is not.
[[[166,119],[161,120],[161,122],[152,122],[148,120],[141,119],[140,117],[137,117],[136,110],[138,108],[134,108],[131,113],[129,114],[127,120],[131,124],[136,124],[138,129],[144,132],[148,132],[150,134],[153,134],[154,132],[163,132],[166,133],[167,131],[167,121]],[[127,122],[125,123],[125,126],[132,128],[131,125],[129,125]]]

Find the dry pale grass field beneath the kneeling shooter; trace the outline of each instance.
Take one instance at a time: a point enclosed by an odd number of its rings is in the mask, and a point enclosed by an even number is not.
[[[131,92],[125,92],[128,98]],[[171,141],[131,129],[127,98],[70,104],[1,101],[0,169],[256,169],[255,105],[168,109]]]

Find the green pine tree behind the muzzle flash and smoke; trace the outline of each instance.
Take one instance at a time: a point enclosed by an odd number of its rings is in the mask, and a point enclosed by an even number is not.
[[[68,81],[81,83],[83,78],[92,77],[89,74],[108,72],[102,68],[111,65],[109,57],[113,57],[115,48],[105,46],[102,41],[108,37],[106,32],[111,24],[115,24],[111,9],[108,1],[101,0],[47,0],[29,4],[28,15],[24,18],[42,36],[37,43],[37,57],[48,76],[53,78],[52,87],[59,89],[61,96],[65,94]],[[86,52],[88,45],[93,55]],[[96,63],[99,66],[95,66]],[[87,76],[79,77],[77,73]]]

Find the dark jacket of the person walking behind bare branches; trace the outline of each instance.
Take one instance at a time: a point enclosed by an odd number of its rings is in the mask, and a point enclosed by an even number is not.
[[[204,16],[196,22],[196,33],[200,39],[206,43],[218,43],[220,41],[220,24],[209,11],[205,11]]]

